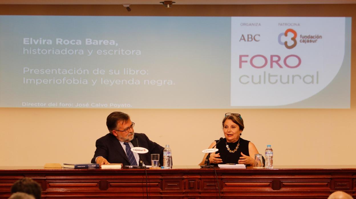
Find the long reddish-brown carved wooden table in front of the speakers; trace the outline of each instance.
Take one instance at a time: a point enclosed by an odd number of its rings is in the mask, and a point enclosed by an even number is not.
[[[215,176],[215,171],[217,177]],[[356,197],[356,166],[274,166],[273,169],[44,169],[0,167],[0,198],[28,177],[42,198],[221,198],[314,199],[342,190]],[[147,172],[147,184],[146,184]],[[218,189],[218,183],[219,189]],[[147,189],[147,192],[146,192]]]

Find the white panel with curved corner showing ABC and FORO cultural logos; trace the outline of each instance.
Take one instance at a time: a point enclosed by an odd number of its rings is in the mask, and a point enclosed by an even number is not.
[[[231,106],[307,99],[339,72],[345,17],[232,17]]]

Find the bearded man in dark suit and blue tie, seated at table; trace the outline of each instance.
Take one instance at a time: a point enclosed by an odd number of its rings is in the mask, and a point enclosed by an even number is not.
[[[134,133],[130,116],[123,112],[112,112],[106,118],[109,133],[96,140],[96,150],[91,163],[108,164],[122,163],[124,166],[151,165],[151,154],[159,154],[159,162],[163,165],[163,147],[152,142],[144,133]],[[132,147],[143,147],[148,153],[138,155],[131,152]]]

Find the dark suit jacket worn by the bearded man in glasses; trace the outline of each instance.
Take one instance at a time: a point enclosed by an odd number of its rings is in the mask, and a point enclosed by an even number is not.
[[[145,163],[145,165],[151,165],[151,154],[159,154],[159,162],[163,166],[163,147],[158,145],[156,142],[152,142],[144,133],[135,133],[133,140],[131,141],[134,147],[138,146],[147,148],[148,153],[141,153],[140,159]],[[95,158],[98,156],[103,156],[110,163],[122,163],[124,166],[130,165],[129,159],[127,159],[124,148],[122,148],[119,140],[111,133],[106,134],[96,140],[95,143],[96,150],[94,153],[91,163],[96,163]]]

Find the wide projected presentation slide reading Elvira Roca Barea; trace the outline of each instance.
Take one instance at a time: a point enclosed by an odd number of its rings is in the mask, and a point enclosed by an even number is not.
[[[350,108],[351,17],[0,16],[0,107]]]

